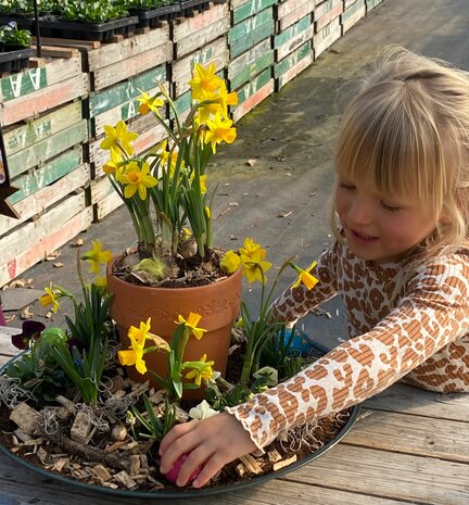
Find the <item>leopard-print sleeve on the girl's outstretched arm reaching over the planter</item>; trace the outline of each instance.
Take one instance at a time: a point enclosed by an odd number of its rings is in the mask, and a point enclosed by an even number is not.
[[[446,258],[447,260],[447,258]],[[369,331],[342,343],[290,380],[231,407],[258,447],[280,432],[340,412],[384,390],[457,339],[469,354],[468,258],[434,261]],[[453,366],[469,391],[469,367]]]

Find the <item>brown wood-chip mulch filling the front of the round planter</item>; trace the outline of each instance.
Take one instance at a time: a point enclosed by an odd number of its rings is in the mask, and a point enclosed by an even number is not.
[[[232,351],[228,362],[231,377],[228,374],[227,378],[233,378],[242,346],[236,343]],[[165,393],[149,382],[134,382],[116,363],[109,359],[96,406],[76,402],[73,391],[38,401],[17,381],[0,376],[0,445],[43,470],[81,483],[139,492],[180,491],[159,470],[159,443],[142,439],[139,426],[130,426],[127,415],[143,394],[156,415],[161,414]],[[50,389],[55,390],[56,384]],[[195,403],[199,402],[182,401],[178,405],[178,422],[189,420],[189,411]],[[266,474],[275,476],[333,440],[347,424],[351,412],[279,437],[265,447],[264,455],[248,455],[226,465],[208,487],[223,488]]]

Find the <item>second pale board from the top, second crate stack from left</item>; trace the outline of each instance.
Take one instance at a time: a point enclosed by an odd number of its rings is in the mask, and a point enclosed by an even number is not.
[[[98,91],[115,83],[139,76],[144,71],[159,67],[173,58],[173,45],[170,42],[153,48],[124,62],[117,62],[103,68],[97,68],[92,74],[92,90]]]

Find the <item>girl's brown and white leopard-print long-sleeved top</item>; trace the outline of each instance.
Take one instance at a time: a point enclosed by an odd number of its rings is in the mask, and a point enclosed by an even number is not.
[[[288,381],[227,408],[257,447],[404,376],[432,391],[469,392],[469,251],[427,260],[398,289],[403,266],[373,265],[335,243],[320,256],[313,272],[320,281],[312,291],[300,285],[276,300],[274,315],[294,321],[341,293],[351,340]]]

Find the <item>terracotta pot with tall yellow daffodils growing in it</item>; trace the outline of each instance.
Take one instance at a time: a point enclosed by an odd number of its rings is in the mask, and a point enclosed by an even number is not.
[[[220,268],[224,251],[214,245],[214,192],[206,167],[218,144],[236,139],[228,108],[237,103],[237,94],[227,91],[214,65],[195,64],[189,85],[192,106],[183,121],[162,84],[154,96],[138,98],[139,112],[153,114],[167,135],[147,153],[135,155],[138,136],[124,122],[104,127],[101,148],[110,153],[104,172],[137,235],[136,248],[110,263],[107,288],[124,348],[132,343],[129,328],[149,317],[152,331],[169,342],[178,317],[188,320],[198,314],[207,331],[188,343],[185,359],[206,356],[225,374],[241,303],[241,272]],[[165,119],[165,108],[172,121]],[[149,368],[164,368],[160,354],[152,353]]]

